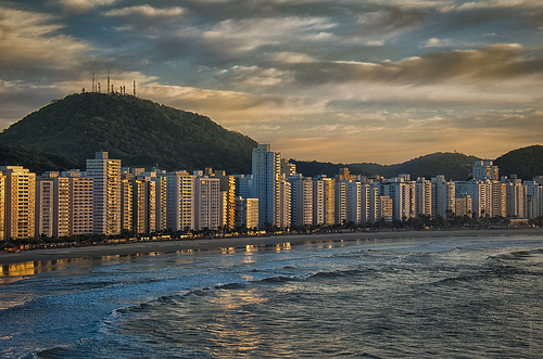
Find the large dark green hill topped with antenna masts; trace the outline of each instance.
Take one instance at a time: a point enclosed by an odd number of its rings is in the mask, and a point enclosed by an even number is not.
[[[123,166],[251,171],[256,142],[209,117],[132,95],[77,93],[53,100],[0,133],[0,143],[83,162],[110,152]]]

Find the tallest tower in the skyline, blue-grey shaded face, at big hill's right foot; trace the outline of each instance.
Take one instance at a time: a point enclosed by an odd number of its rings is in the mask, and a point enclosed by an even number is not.
[[[253,192],[258,198],[258,223],[280,227],[281,155],[269,144],[258,144],[252,154]]]

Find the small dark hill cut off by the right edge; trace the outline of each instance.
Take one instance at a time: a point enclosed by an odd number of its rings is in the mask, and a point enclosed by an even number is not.
[[[531,145],[514,150],[494,161],[501,176],[517,175],[523,180],[543,175],[543,145]]]

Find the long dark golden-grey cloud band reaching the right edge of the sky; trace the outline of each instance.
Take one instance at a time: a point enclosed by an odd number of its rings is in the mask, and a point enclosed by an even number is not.
[[[478,50],[452,50],[412,56],[399,62],[344,62],[307,64],[299,67],[303,84],[382,82],[417,86],[453,78],[464,80],[504,80],[540,76],[543,59],[525,57],[517,43],[492,44]]]

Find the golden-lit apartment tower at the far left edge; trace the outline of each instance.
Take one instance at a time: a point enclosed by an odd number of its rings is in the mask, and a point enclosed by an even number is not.
[[[4,239],[26,239],[35,234],[36,174],[22,166],[0,166],[5,176]]]

